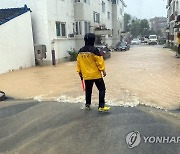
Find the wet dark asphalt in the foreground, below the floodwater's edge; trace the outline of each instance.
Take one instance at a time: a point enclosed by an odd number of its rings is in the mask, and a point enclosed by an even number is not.
[[[82,110],[80,103],[10,101],[0,107],[2,154],[178,154],[180,116],[143,106]],[[129,148],[127,135],[140,133]],[[174,137],[155,143],[154,137]],[[145,142],[144,137],[151,137]],[[129,138],[127,138],[129,139]],[[128,140],[127,140],[128,141]],[[167,141],[168,142],[168,141]]]

